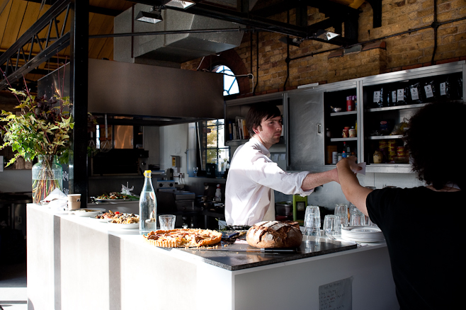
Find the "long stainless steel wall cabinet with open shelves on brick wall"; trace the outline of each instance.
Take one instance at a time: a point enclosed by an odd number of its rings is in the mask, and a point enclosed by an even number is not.
[[[391,135],[392,127],[409,119],[428,102],[465,102],[465,79],[465,61],[439,64],[227,101],[225,119],[246,116],[253,103],[271,102],[280,105],[283,109],[283,143],[288,171],[319,172],[335,168],[329,161],[329,151],[336,147],[336,151],[341,153],[344,142],[350,147],[351,153],[358,157],[358,162],[365,161],[368,164],[367,172],[411,173],[409,163],[394,159],[389,161],[388,158],[385,163],[374,163],[374,151],[385,140],[390,143],[394,140],[394,145],[402,147],[402,135]],[[387,96],[384,98],[385,103],[376,102],[380,93]],[[398,96],[400,93],[404,93],[405,98],[392,98],[392,95]],[[356,111],[347,111],[348,96],[356,97]],[[341,108],[341,111],[335,113],[332,108]],[[392,125],[389,132],[377,132],[380,130],[380,122],[386,120]],[[357,137],[342,137],[344,127],[355,127]],[[226,144],[232,146],[244,142],[229,139],[228,134],[226,139]]]

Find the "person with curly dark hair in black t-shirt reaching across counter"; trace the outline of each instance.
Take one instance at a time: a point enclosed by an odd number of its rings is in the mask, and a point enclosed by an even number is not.
[[[382,229],[400,309],[460,309],[466,287],[466,105],[431,103],[409,120],[404,141],[425,186],[370,190],[356,158],[337,163],[346,199]]]

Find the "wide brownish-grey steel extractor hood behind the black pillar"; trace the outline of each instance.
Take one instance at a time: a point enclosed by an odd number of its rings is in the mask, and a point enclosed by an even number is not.
[[[66,66],[38,81],[39,96],[53,96],[69,85],[69,76],[59,78],[63,71],[69,75]],[[109,125],[163,126],[224,117],[222,74],[89,59],[88,89],[89,113],[130,116],[113,118]]]

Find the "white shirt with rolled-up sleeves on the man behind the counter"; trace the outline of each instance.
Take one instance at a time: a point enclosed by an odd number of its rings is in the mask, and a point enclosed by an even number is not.
[[[309,195],[302,181],[309,171],[288,173],[270,159],[270,152],[252,137],[238,147],[229,166],[225,188],[225,219],[228,225],[252,226],[275,220],[273,190],[288,195]]]

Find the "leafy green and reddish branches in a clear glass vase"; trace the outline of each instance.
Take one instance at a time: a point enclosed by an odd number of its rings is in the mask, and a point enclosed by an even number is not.
[[[20,113],[1,111],[1,136],[4,144],[0,149],[11,147],[15,156],[6,166],[14,163],[22,156],[25,161],[33,161],[38,157],[38,163],[33,166],[33,202],[39,203],[52,190],[62,190],[62,166],[68,161],[69,134],[74,122],[69,114],[69,97],[54,96],[38,98],[30,94],[27,86],[25,91],[9,88],[18,98],[19,105],[15,108]]]

